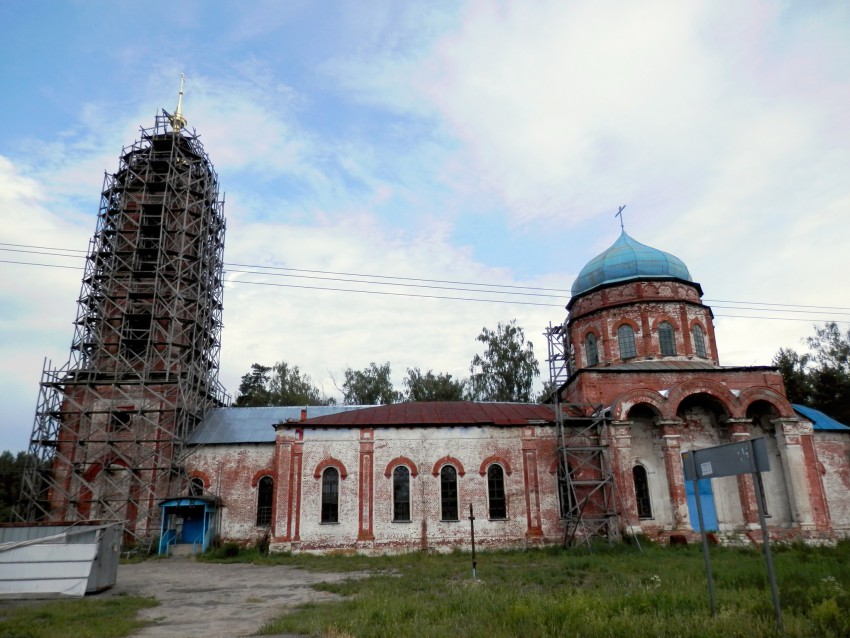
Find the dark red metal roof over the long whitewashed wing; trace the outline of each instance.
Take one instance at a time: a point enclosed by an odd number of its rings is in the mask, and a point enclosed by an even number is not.
[[[536,403],[475,403],[423,401],[393,403],[356,412],[308,418],[304,427],[325,426],[424,426],[424,425],[528,425],[554,420],[552,408]]]

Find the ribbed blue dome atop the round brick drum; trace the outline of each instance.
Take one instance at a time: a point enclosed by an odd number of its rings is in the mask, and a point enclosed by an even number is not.
[[[688,267],[681,259],[645,246],[623,231],[608,250],[591,259],[581,269],[571,292],[575,297],[604,284],[647,278],[693,281]]]

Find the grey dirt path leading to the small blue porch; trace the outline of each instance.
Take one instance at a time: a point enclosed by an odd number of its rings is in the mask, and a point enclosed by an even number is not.
[[[253,634],[287,606],[334,598],[310,585],[357,576],[175,557],[120,565],[115,587],[99,596],[159,600],[158,607],[140,613],[153,624],[134,634],[139,638],[233,638]]]

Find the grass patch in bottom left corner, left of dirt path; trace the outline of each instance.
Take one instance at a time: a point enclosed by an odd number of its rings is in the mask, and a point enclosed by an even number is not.
[[[147,623],[136,615],[153,598],[77,598],[0,609],[0,638],[119,638]]]

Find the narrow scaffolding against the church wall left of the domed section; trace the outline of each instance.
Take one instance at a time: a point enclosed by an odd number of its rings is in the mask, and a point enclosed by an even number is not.
[[[567,326],[550,323],[544,334],[549,345],[564,547],[589,546],[600,537],[617,540],[617,493],[608,446],[610,417],[601,405],[562,402],[561,391],[575,368]]]

